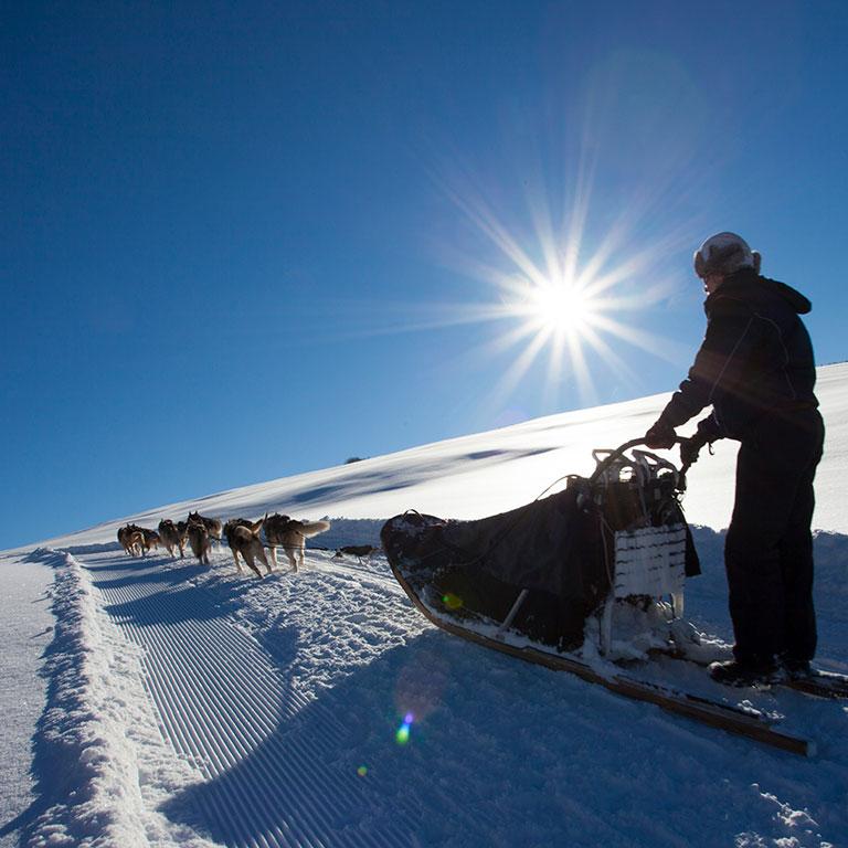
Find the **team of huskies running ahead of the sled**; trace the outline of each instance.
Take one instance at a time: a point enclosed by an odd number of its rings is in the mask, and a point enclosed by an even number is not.
[[[242,573],[242,563],[262,576],[258,565],[271,573],[277,563],[277,548],[282,548],[292,565],[292,571],[297,571],[298,561],[304,564],[304,551],[306,540],[330,529],[329,521],[298,521],[275,512],[265,515],[258,521],[250,521],[246,518],[233,518],[225,524],[216,518],[206,518],[199,512],[189,512],[186,521],[177,521],[166,518],[159,522],[159,530],[149,530],[137,524],[127,524],[118,530],[118,542],[124,552],[131,556],[145,556],[151,549],[161,544],[171,558],[184,556],[186,543],[191,552],[205,565],[210,564],[209,552],[212,549],[212,539],[221,541],[222,534],[226,537],[226,543],[233,553],[235,566]],[[265,553],[265,545],[259,533],[265,531],[265,540],[271,550],[271,562]],[[343,551],[343,549],[342,549]]]

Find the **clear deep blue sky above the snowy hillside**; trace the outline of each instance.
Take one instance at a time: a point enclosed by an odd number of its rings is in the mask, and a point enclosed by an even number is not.
[[[848,358],[842,2],[6,3],[0,47],[0,548],[669,391],[718,230]]]

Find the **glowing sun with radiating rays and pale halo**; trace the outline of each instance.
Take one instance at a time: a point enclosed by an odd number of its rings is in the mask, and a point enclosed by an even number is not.
[[[582,406],[600,403],[611,381],[638,384],[642,353],[669,362],[688,356],[674,339],[643,329],[639,316],[677,289],[667,257],[683,246],[687,229],[646,230],[650,194],[594,223],[593,167],[577,165],[576,177],[559,189],[541,179],[524,181],[526,206],[518,209],[492,205],[479,181],[460,171],[435,172],[465,219],[442,245],[439,262],[481,287],[470,301],[415,305],[412,321],[404,304],[403,322],[379,330],[473,328],[463,364],[487,373],[495,365],[484,399],[492,412],[523,393],[540,364],[541,379],[533,380],[540,406],[556,410],[563,398],[576,398]]]

